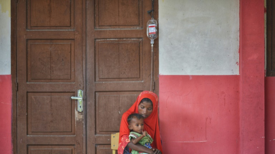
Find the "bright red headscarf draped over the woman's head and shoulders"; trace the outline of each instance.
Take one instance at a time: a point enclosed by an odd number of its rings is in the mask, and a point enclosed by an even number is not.
[[[152,113],[144,119],[144,130],[153,138],[153,143],[151,146],[162,151],[162,145],[160,140],[160,128],[158,120],[157,105],[158,99],[157,95],[151,91],[143,91],[138,96],[135,103],[127,110],[121,118],[120,130],[119,130],[119,145],[118,145],[118,154],[123,154],[124,148],[130,142],[127,118],[132,113],[138,113],[138,105],[140,101],[144,98],[149,98],[153,102],[153,111]]]

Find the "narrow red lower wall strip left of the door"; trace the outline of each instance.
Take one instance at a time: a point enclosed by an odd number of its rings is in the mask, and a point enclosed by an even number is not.
[[[0,153],[12,153],[11,75],[0,75]]]

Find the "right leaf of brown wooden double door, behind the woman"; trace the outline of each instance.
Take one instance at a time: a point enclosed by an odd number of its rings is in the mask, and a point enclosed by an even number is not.
[[[86,1],[89,154],[111,153],[111,133],[119,131],[122,114],[141,91],[151,89],[152,53],[146,36],[151,7],[151,1],[143,0]]]

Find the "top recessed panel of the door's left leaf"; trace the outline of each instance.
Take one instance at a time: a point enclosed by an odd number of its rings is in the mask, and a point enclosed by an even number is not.
[[[28,29],[74,29],[74,1],[30,0],[27,3]]]

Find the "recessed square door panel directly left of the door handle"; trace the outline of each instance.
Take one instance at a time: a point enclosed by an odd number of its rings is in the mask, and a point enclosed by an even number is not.
[[[75,135],[74,93],[28,92],[29,135]]]

